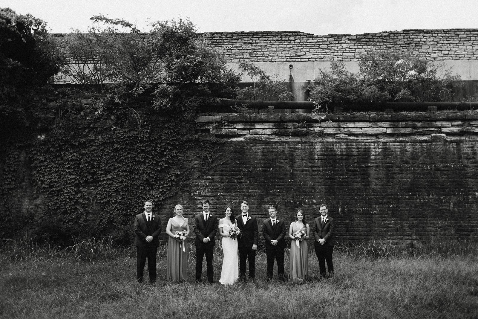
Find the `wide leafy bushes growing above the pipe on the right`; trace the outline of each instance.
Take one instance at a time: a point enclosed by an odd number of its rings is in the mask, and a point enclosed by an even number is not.
[[[384,101],[445,101],[460,80],[451,67],[427,61],[409,51],[384,50],[360,55],[359,72],[348,72],[342,61],[321,70],[307,89],[320,105]]]

